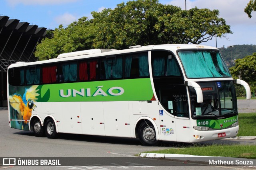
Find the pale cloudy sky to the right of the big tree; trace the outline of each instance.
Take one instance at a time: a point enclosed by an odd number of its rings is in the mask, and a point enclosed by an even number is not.
[[[161,0],[160,0],[161,2]],[[224,18],[227,25],[230,25],[233,34],[227,37],[217,38],[217,46],[225,47],[229,45],[256,44],[256,12],[252,13],[252,18],[248,18],[244,12],[249,0],[186,0],[187,10],[191,8],[208,8],[210,10],[219,10],[219,17]],[[168,3],[179,6],[185,10],[184,0],[169,0]],[[216,39],[213,38],[202,45],[216,45]]]

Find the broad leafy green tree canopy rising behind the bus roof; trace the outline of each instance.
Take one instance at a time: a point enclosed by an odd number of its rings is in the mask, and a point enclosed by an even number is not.
[[[215,35],[230,31],[218,10],[181,8],[160,4],[158,0],[134,0],[114,9],[92,12],[68,27],[53,31],[52,39],[44,39],[36,47],[40,60],[55,58],[60,53],[81,49],[127,49],[133,45],[206,42]]]

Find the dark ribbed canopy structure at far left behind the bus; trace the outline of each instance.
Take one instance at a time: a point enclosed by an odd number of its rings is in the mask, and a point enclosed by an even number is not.
[[[34,51],[45,35],[44,27],[0,16],[0,72],[7,72],[12,63],[37,61]]]

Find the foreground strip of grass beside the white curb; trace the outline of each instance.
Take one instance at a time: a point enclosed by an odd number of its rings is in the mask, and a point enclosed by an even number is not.
[[[180,148],[170,148],[165,150],[154,150],[144,153],[163,154],[190,154],[199,156],[224,156],[234,158],[256,159],[255,145],[184,145]]]

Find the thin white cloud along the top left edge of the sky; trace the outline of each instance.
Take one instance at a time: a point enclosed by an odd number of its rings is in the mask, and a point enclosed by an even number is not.
[[[23,5],[56,5],[65,4],[69,2],[76,2],[78,0],[6,0],[10,6],[16,6],[18,4]]]

